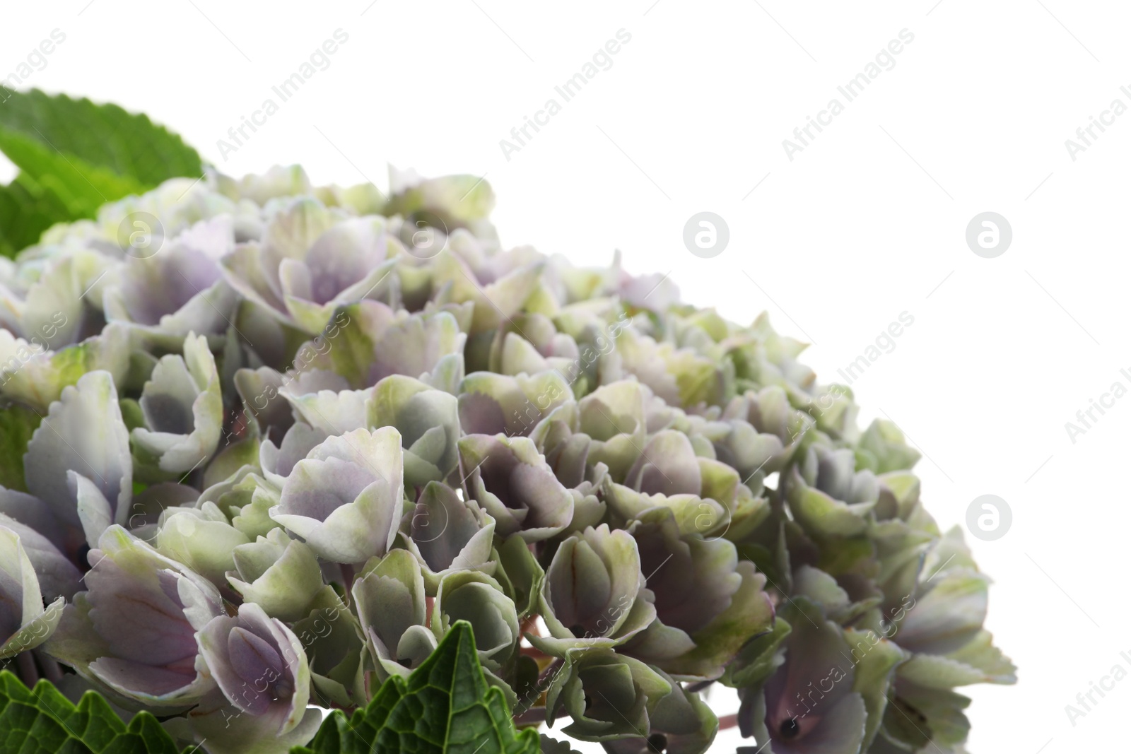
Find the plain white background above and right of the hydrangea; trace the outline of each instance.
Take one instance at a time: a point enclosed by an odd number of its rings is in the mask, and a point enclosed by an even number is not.
[[[1064,705],[1116,662],[1131,670],[1131,397],[1074,443],[1064,424],[1116,380],[1131,387],[1131,114],[1076,161],[1064,141],[1112,99],[1131,105],[1128,8],[934,2],[6,0],[0,76],[59,28],[26,86],[145,111],[225,172],[486,174],[504,243],[579,263],[620,249],[633,272],[671,272],[685,301],[743,322],[767,310],[813,344],[826,381],[910,313],[852,385],[862,423],[888,416],[923,451],[944,527],[984,493],[1013,512],[1004,537],[970,541],[1020,683],[970,690],[969,749],[1122,751],[1131,679],[1074,727]],[[217,139],[337,28],[349,38],[330,67],[224,159]],[[622,28],[612,68],[508,161],[500,139],[561,103],[554,86]],[[837,86],[904,28],[895,68],[846,103]],[[832,97],[844,113],[791,162],[782,140]],[[701,210],[729,225],[714,259],[682,244]],[[965,243],[986,210],[1013,229],[996,259]]]

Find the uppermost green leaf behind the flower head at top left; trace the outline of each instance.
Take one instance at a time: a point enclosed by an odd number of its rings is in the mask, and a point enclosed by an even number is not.
[[[86,98],[50,96],[38,89],[14,92],[0,104],[0,129],[144,185],[196,177],[204,170],[192,147],[147,115]]]

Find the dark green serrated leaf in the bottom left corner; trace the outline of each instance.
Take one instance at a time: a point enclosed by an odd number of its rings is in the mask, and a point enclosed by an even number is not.
[[[76,707],[49,682],[41,681],[29,691],[19,678],[3,670],[0,671],[0,752],[176,754],[176,744],[148,712],[139,712],[127,726],[106,700],[93,691],[86,692]]]

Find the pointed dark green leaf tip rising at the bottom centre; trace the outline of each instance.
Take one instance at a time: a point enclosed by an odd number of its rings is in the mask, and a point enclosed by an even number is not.
[[[538,734],[518,733],[500,688],[487,685],[472,625],[457,621],[407,679],[392,676],[364,710],[335,711],[292,754],[538,754]]]

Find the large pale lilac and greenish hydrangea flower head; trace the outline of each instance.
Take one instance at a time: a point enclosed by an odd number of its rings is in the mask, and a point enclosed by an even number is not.
[[[1013,668],[899,431],[492,205],[209,173],[0,261],[0,658],[266,754],[464,619],[516,722],[614,754],[706,751],[716,683],[751,752],[960,752]]]

